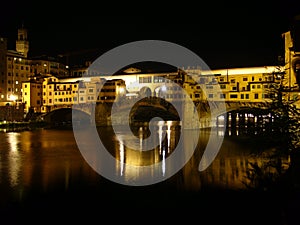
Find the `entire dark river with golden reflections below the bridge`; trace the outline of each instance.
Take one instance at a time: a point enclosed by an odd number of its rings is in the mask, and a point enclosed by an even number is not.
[[[124,164],[147,166],[164,162],[172,155],[180,132],[172,129],[172,125],[169,128],[166,138],[151,151],[127,147],[128,133],[122,133],[122,130],[118,131],[118,138],[110,127],[97,128],[97,135],[107,152],[117,159],[113,173],[125,177],[123,182],[131,184],[130,181],[137,180],[141,173],[124,167]],[[85,133],[84,129],[81,131]],[[136,144],[142,146],[149,131],[141,127],[134,132],[139,137]],[[95,168],[99,167],[92,165],[82,154],[80,148],[83,145],[78,145],[72,129],[2,130],[0,203],[2,221],[6,222],[1,223],[0,219],[0,224],[37,221],[40,215],[43,218],[39,224],[58,218],[68,221],[95,219],[98,215],[95,211],[105,212],[103,208],[114,214],[126,209],[144,209],[145,212],[151,209],[149,213],[153,215],[153,221],[170,209],[181,213],[186,209],[189,213],[196,211],[196,215],[192,214],[195,220],[210,220],[211,223],[220,218],[222,223],[231,224],[257,224],[258,220],[263,224],[294,221],[291,212],[297,207],[282,205],[282,196],[278,196],[278,200],[267,194],[253,194],[245,186],[248,162],[262,160],[251,153],[254,150],[268,151],[272,145],[236,133],[218,132],[217,129],[202,130],[193,155],[174,175],[157,183],[134,186],[115,182],[96,171]],[[208,167],[199,171],[199,162],[212,133],[222,136],[220,149]],[[86,140],[84,146],[87,149],[93,147],[88,137]],[[160,165],[161,172],[170,170],[168,163]],[[287,209],[290,213],[286,212]],[[101,221],[105,215],[102,214]],[[175,219],[176,214],[171,217]],[[151,220],[147,217],[142,222],[148,219]]]

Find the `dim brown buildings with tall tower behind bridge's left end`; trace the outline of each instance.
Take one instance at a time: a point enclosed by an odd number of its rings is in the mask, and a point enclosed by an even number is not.
[[[68,68],[53,57],[28,57],[28,31],[24,27],[17,30],[15,50],[7,49],[7,42],[7,38],[0,37],[0,105],[22,102],[25,98],[22,83],[28,83],[34,76],[52,74],[63,78],[69,75]]]

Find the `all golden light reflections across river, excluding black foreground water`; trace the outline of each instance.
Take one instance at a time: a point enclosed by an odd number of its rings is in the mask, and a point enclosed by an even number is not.
[[[99,136],[107,150],[121,163],[116,171],[126,177],[132,171],[125,171],[124,165],[151,165],[161,163],[163,174],[168,170],[166,159],[176,147],[180,133],[172,126],[162,127],[156,135],[159,146],[154,150],[137,151],[126,147],[127,134],[117,139],[111,128],[101,128]],[[138,141],[143,145],[147,129],[137,129]],[[250,145],[234,141],[226,136],[221,149],[212,164],[202,172],[198,165],[209,139],[210,132],[224,135],[218,130],[203,130],[193,157],[174,177],[167,181],[179,190],[201,190],[206,186],[243,189],[247,162],[251,158]],[[1,192],[15,193],[68,191],[78,184],[83,187],[101,185],[103,178],[84,160],[77,148],[72,130],[38,129],[22,132],[0,133],[0,185]],[[136,171],[133,171],[136,173]],[[136,176],[139,176],[136,173]],[[4,194],[4,193],[1,193]],[[19,194],[17,194],[19,196]],[[23,195],[23,194],[22,194]]]

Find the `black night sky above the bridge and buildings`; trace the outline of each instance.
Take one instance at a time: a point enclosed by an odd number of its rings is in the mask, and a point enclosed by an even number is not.
[[[156,39],[190,49],[212,69],[274,65],[283,51],[281,34],[300,13],[296,2],[9,1],[1,14],[0,35],[14,49],[23,22],[30,56],[81,52],[82,58],[96,57],[121,44]]]

